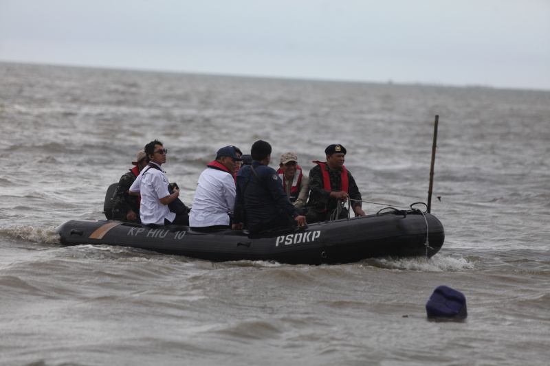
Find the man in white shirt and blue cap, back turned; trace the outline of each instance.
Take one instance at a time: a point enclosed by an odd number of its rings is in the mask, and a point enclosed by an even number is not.
[[[240,151],[240,150],[239,150]],[[225,146],[201,173],[189,216],[189,226],[197,231],[230,228],[235,205],[235,163],[242,161],[234,146]]]

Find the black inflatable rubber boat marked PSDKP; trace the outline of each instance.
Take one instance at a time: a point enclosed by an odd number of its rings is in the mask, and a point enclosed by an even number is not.
[[[71,220],[58,227],[61,244],[107,244],[185,255],[213,262],[271,260],[287,264],[351,263],[374,257],[431,257],[441,249],[441,222],[419,209],[326,221],[251,235],[186,226],[151,227],[113,220]],[[428,238],[428,240],[426,240]]]

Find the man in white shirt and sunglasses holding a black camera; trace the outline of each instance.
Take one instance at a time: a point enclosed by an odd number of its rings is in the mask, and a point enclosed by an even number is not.
[[[144,151],[149,161],[135,182],[129,193],[141,195],[140,216],[144,225],[189,225],[188,216],[170,212],[168,204],[179,196],[179,190],[168,192],[168,178],[161,165],[166,163],[166,150],[160,141],[151,141],[146,144]]]

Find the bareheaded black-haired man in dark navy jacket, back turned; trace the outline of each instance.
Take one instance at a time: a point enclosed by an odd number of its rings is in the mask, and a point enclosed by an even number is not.
[[[252,233],[275,227],[307,225],[305,216],[298,215],[296,208],[283,192],[283,182],[273,168],[271,145],[256,141],[252,145],[252,165],[245,165],[236,174],[235,220],[236,228],[243,224]]]

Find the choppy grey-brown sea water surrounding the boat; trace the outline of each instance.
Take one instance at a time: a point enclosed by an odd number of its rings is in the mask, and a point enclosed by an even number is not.
[[[549,364],[549,91],[12,63],[0,80],[0,364]],[[428,260],[213,263],[54,231],[104,218],[153,139],[188,205],[219,148],[258,139],[306,174],[344,145],[367,214],[426,202],[435,115]],[[465,321],[426,318],[442,284]]]

